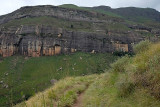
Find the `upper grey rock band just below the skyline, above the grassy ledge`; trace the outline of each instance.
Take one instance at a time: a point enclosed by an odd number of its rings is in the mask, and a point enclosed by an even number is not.
[[[111,18],[105,14],[100,14],[91,11],[82,11],[75,9],[67,9],[58,6],[26,6],[22,7],[10,14],[0,17],[0,24],[9,22],[14,19],[50,16],[55,18],[63,18],[65,20],[89,21],[89,22],[110,22],[116,21],[116,18]],[[118,20],[117,20],[118,21]]]

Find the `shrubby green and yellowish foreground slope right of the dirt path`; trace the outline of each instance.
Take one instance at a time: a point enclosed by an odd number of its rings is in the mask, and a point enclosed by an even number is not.
[[[160,107],[160,43],[145,41],[134,49],[134,57],[119,59],[111,72],[90,85],[84,107]]]

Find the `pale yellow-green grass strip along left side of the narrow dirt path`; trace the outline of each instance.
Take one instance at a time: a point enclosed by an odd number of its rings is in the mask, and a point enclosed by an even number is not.
[[[59,107],[70,107],[76,101],[77,96],[86,90],[94,80],[98,79],[98,75],[75,78],[68,77],[66,79],[60,80],[55,84],[55,86],[49,88],[48,90],[36,94],[28,101],[17,105],[17,107],[50,107],[51,105]]]

